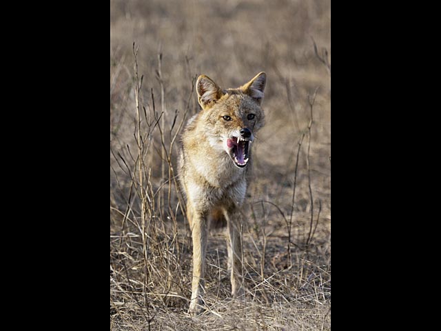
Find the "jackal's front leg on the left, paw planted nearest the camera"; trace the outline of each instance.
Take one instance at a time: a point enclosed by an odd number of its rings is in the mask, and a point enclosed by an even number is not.
[[[205,253],[207,251],[207,213],[194,210],[187,205],[190,227],[193,239],[193,279],[192,300],[189,313],[193,316],[203,311],[203,294],[205,292]]]

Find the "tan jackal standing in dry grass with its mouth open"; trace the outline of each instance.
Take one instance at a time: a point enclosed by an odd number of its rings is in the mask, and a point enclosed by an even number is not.
[[[247,189],[245,175],[252,163],[252,141],[264,124],[260,105],[266,83],[265,72],[239,88],[226,90],[205,75],[196,81],[202,111],[187,122],[178,165],[193,239],[192,315],[203,310],[205,252],[212,221],[227,223],[232,296],[243,292],[241,207]]]

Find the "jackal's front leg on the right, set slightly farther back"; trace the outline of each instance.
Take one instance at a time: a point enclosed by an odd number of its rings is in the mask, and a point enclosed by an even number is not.
[[[227,219],[228,230],[228,267],[231,270],[232,296],[234,298],[243,294],[242,290],[242,243],[241,227],[242,213],[237,205],[225,210],[225,219]]]

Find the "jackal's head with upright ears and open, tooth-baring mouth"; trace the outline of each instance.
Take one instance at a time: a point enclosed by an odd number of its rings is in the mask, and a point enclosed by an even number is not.
[[[265,72],[239,88],[227,90],[205,75],[196,82],[206,137],[213,148],[225,150],[238,168],[247,165],[254,133],[264,124],[260,105],[266,83]]]

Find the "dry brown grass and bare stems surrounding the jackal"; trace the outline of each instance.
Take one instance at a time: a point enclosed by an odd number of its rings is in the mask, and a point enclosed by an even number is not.
[[[111,330],[330,330],[329,63],[328,0],[110,1]],[[209,310],[192,319],[179,133],[199,110],[198,74],[229,88],[260,71],[267,123],[243,210],[247,295],[229,297],[213,230]]]

